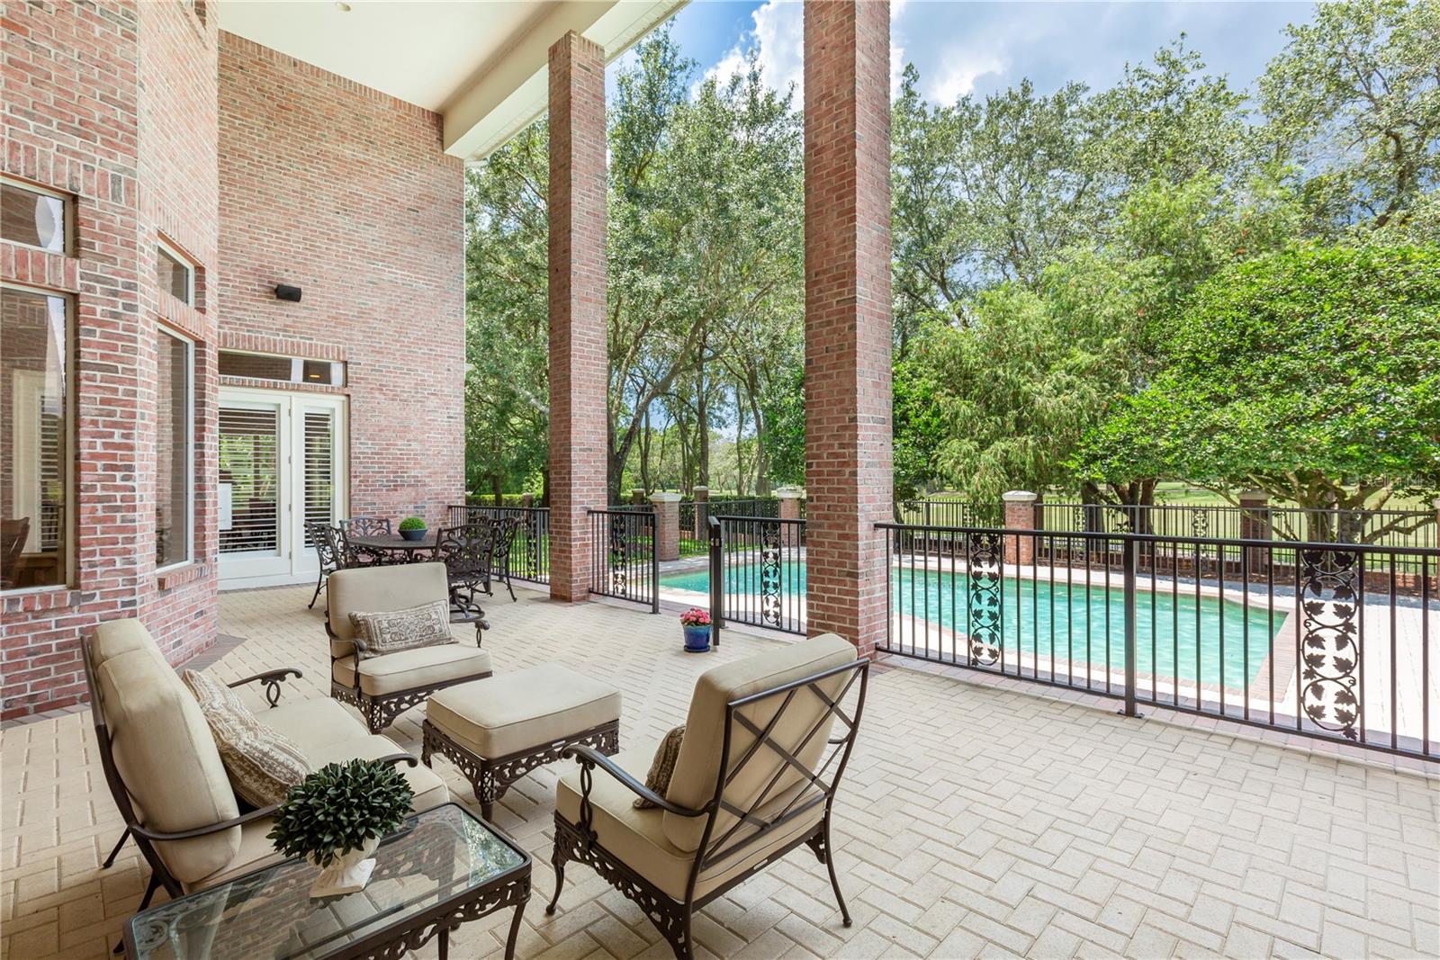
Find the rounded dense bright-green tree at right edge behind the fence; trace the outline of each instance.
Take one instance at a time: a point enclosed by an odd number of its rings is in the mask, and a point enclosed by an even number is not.
[[[1344,510],[1440,486],[1440,248],[1266,253],[1202,284],[1175,338],[1084,438],[1083,475]]]

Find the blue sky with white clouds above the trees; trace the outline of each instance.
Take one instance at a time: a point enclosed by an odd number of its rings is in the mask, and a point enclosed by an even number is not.
[[[1312,12],[1310,3],[891,0],[890,46],[894,72],[913,62],[922,92],[936,102],[1005,89],[1022,76],[1041,92],[1067,81],[1109,86],[1126,60],[1148,59],[1181,32],[1211,72],[1253,88],[1284,45],[1284,24]],[[801,24],[798,0],[693,0],[675,14],[674,36],[701,72],[734,69],[757,47],[766,82],[780,88],[801,79]]]

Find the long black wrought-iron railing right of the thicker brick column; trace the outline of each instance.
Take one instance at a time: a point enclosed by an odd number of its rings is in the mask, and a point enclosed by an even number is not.
[[[877,527],[887,653],[1113,697],[1128,714],[1440,750],[1433,547]]]

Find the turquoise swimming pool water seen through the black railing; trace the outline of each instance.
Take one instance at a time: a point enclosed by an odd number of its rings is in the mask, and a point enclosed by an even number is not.
[[[757,577],[755,567],[730,569],[726,592],[757,594]],[[785,567],[782,579],[786,594],[804,596],[805,564]],[[672,573],[662,576],[660,583],[671,590],[708,594],[710,571]],[[903,615],[897,642],[909,643],[913,636],[923,645],[924,628],[919,620],[962,633],[973,626],[965,574],[893,569],[890,594],[893,609]],[[1276,610],[1272,629],[1267,610],[1220,597],[1197,597],[1192,584],[1181,584],[1178,594],[1140,590],[1136,599],[1136,672],[1161,679],[1176,676],[1191,684],[1198,672],[1202,684],[1244,687],[1247,675],[1254,679],[1270,652],[1272,632],[1284,619],[1283,610]],[[1021,652],[1040,658],[1041,669],[1051,655],[1057,661],[1087,662],[1097,668],[1106,664],[1110,669],[1125,668],[1123,590],[1007,577],[1001,581],[999,602],[1007,658],[1014,655],[1018,640]],[[912,616],[917,620],[914,628]]]

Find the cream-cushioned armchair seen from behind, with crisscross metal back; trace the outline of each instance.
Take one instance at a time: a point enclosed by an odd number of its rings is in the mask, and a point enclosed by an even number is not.
[[[696,682],[664,796],[644,784],[654,743],[613,757],[566,750],[580,766],[556,789],[556,887],[546,913],[560,901],[564,865],[589,864],[688,960],[691,914],[804,843],[828,865],[848,927],[829,818],[868,666],[827,633],[708,671]],[[636,797],[654,806],[636,809]]]

